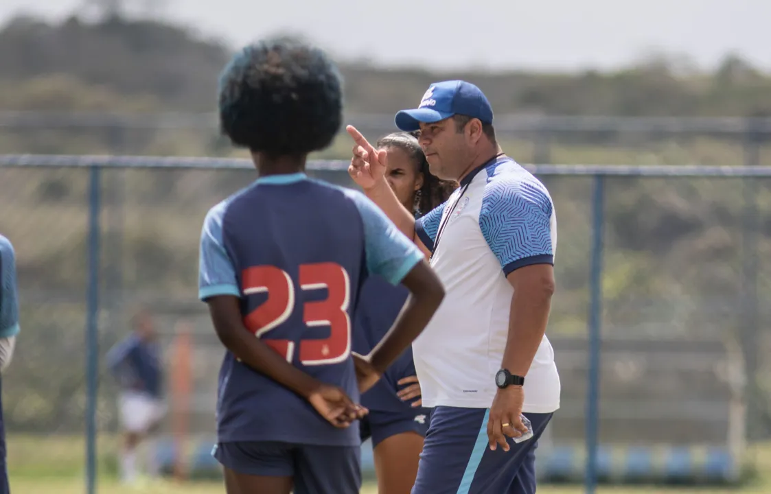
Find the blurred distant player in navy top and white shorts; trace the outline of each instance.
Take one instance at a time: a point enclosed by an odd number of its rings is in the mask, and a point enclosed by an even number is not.
[[[123,482],[137,478],[136,453],[166,415],[163,402],[163,361],[150,313],[144,309],[132,318],[132,333],[107,353],[107,366],[120,385],[118,412],[123,428],[120,473]],[[157,477],[158,463],[152,442],[146,449],[146,472]]]

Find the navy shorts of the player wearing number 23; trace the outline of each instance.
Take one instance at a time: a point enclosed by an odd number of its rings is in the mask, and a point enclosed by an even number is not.
[[[220,442],[214,458],[234,472],[291,477],[295,494],[358,494],[362,488],[359,446],[288,442]]]

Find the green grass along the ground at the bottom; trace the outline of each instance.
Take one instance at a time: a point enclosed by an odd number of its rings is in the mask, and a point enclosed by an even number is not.
[[[221,482],[172,481],[146,482],[138,486],[124,487],[115,480],[116,441],[110,436],[99,438],[99,479],[97,492],[104,494],[222,494]],[[86,492],[84,479],[84,441],[82,437],[10,435],[8,437],[8,470],[11,489],[14,494],[83,494]],[[604,494],[666,494],[674,492],[719,494],[723,492],[761,494],[771,492],[771,444],[752,449],[748,458],[759,475],[746,486],[739,488],[674,488],[659,486],[620,487],[601,486]],[[544,494],[579,494],[581,486],[540,486]],[[377,489],[368,484],[362,494],[377,494]]]

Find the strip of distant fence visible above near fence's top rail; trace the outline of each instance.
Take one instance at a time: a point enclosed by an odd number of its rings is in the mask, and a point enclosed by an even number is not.
[[[376,139],[393,115],[349,115],[345,123]],[[529,163],[771,166],[771,119],[759,117],[495,117],[498,139]],[[347,158],[342,133],[319,159]],[[0,112],[3,153],[227,156],[214,113]]]

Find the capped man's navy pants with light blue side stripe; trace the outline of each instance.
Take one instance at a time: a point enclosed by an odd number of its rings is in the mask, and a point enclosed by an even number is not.
[[[533,437],[490,451],[487,408],[439,406],[420,454],[412,494],[533,494],[535,449],[553,414],[526,413]]]

